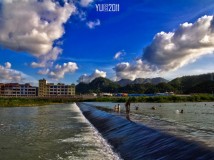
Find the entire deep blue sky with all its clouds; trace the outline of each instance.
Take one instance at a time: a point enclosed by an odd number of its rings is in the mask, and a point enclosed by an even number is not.
[[[77,83],[98,76],[170,80],[213,72],[213,0],[32,1],[0,2],[2,82],[36,83],[44,77]],[[119,4],[120,11],[98,12],[96,4]],[[23,17],[20,8],[32,13]],[[185,22],[192,25],[181,25]],[[192,36],[184,45],[179,35]]]

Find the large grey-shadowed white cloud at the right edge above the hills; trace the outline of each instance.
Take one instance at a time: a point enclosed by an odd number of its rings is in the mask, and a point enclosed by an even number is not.
[[[143,60],[163,71],[176,70],[214,51],[213,16],[203,16],[194,24],[184,23],[175,32],[156,34],[144,50]]]

